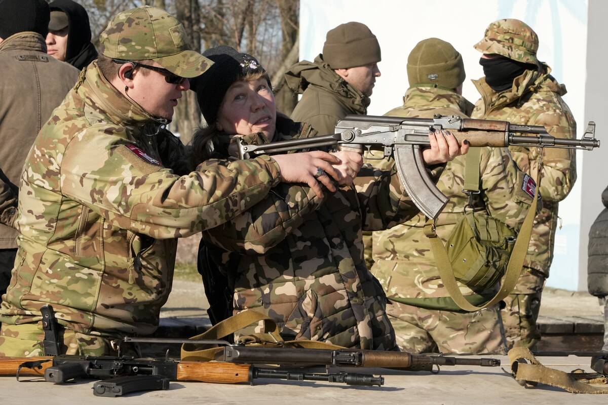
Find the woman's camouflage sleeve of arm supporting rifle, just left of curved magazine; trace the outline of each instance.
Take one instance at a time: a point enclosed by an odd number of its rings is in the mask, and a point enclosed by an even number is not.
[[[430,169],[437,181],[445,165]],[[354,179],[363,218],[364,231],[381,231],[411,219],[420,209],[402,188],[395,160],[388,158],[372,166],[368,160]]]

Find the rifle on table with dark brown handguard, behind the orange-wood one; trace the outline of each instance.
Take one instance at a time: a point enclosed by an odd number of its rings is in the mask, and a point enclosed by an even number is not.
[[[207,340],[123,338],[123,342],[209,344]],[[214,341],[215,342],[215,341]],[[226,342],[227,343],[227,342]],[[290,366],[382,367],[404,371],[433,371],[439,366],[497,367],[494,358],[455,358],[443,355],[412,355],[407,352],[365,349],[303,349],[299,347],[262,347],[227,344],[217,349],[216,361]],[[187,359],[187,356],[184,356]]]

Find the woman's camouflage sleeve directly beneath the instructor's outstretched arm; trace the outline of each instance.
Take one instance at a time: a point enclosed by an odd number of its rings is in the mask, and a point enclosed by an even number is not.
[[[213,163],[207,161],[203,165]],[[217,164],[227,163],[218,161]],[[265,254],[302,225],[305,216],[322,203],[323,199],[319,199],[308,186],[282,183],[246,212],[203,232],[202,236],[226,251]]]

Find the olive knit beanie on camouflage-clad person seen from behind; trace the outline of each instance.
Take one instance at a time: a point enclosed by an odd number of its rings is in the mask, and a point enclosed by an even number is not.
[[[438,38],[420,41],[407,58],[407,80],[416,84],[437,84],[455,89],[465,81],[462,56],[452,44]]]

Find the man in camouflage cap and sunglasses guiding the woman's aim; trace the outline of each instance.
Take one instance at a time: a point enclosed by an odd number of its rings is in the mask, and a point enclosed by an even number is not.
[[[156,330],[178,237],[232,219],[281,181],[319,186],[318,168],[336,175],[328,162],[337,159],[324,152],[174,174],[156,134],[188,78],[212,62],[189,49],[179,21],[153,7],[119,13],[100,43],[98,61],[43,126],[21,175],[21,234],[0,307],[0,356],[116,353],[112,339]],[[329,176],[318,180],[335,189]],[[40,326],[44,304],[61,325],[50,351]]]

